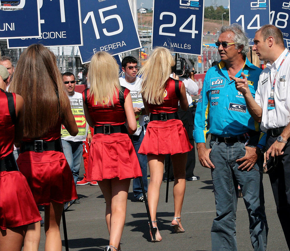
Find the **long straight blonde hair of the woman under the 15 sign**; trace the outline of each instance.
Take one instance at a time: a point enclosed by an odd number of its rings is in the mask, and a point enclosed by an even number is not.
[[[118,99],[117,89],[121,91],[119,82],[119,66],[116,59],[105,51],[97,52],[90,62],[87,74],[90,82],[89,95],[94,95],[95,103],[114,106],[114,95]],[[117,89],[116,89],[117,88]]]

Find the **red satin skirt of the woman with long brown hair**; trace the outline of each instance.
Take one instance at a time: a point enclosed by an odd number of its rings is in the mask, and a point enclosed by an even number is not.
[[[20,153],[17,164],[37,205],[50,205],[51,201],[64,203],[78,198],[71,169],[63,153],[27,151]]]

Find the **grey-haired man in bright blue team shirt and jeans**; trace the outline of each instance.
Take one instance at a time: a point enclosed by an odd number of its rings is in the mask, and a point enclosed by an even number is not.
[[[259,157],[264,150],[265,135],[248,113],[235,81],[229,77],[240,77],[243,72],[254,96],[262,70],[246,58],[248,38],[240,25],[223,26],[216,45],[222,60],[205,75],[194,130],[199,161],[211,169],[213,179],[216,218],[211,228],[212,250],[237,250],[235,220],[240,184],[249,215],[252,246],[255,251],[264,251],[268,226],[262,172],[259,172],[263,159]],[[211,133],[210,149],[205,147],[206,133]]]

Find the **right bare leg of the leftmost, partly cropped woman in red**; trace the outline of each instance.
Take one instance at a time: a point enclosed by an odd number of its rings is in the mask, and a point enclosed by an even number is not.
[[[40,241],[40,221],[28,225],[23,251],[37,251]]]

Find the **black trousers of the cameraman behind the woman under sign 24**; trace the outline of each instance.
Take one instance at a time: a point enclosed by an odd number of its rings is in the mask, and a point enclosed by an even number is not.
[[[194,129],[192,110],[195,111],[195,109],[196,107],[190,107],[187,109],[187,111],[183,111],[180,107],[178,107],[178,114],[184,125],[184,128],[187,131],[189,142],[193,146],[192,150],[187,153],[187,163],[186,163],[186,168],[185,168],[186,178],[190,178],[193,176],[193,170],[195,168],[195,147],[194,147],[194,140],[193,140],[193,135],[192,135],[193,129]],[[168,166],[169,166],[169,179],[173,179],[172,162],[169,158],[170,158],[170,155],[168,154],[165,157],[164,177],[167,177],[167,171],[168,171]]]

